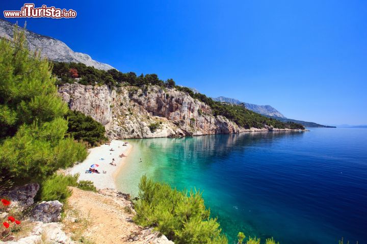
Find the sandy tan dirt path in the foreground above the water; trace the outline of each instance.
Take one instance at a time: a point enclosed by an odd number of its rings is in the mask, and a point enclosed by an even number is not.
[[[71,188],[73,193],[68,199],[63,223],[72,239],[109,244],[173,243],[133,223],[134,210],[130,202],[116,191],[104,189],[92,193]]]

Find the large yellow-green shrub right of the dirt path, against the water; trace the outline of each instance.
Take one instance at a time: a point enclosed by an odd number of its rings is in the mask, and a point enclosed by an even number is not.
[[[177,244],[228,243],[217,219],[209,218],[199,192],[178,191],[168,184],[153,182],[146,176],[139,184],[135,221],[154,226]]]

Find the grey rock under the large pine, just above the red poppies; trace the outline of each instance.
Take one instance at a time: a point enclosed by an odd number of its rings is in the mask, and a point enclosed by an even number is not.
[[[29,207],[34,203],[34,197],[39,190],[38,183],[30,183],[22,186],[17,186],[9,192],[2,195],[11,200],[11,207],[15,206],[20,210]]]

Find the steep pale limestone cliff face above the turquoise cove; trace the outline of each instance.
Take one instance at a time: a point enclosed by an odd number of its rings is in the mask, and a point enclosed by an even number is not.
[[[179,137],[243,130],[211,107],[189,94],[158,86],[107,86],[65,84],[61,97],[71,110],[80,111],[102,123],[112,139]]]

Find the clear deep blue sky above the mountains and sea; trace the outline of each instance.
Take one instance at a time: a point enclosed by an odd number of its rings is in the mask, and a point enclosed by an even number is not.
[[[26,2],[2,1],[1,11]],[[77,17],[28,18],[29,30],[122,72],[270,104],[293,119],[367,124],[366,1],[33,3]]]

